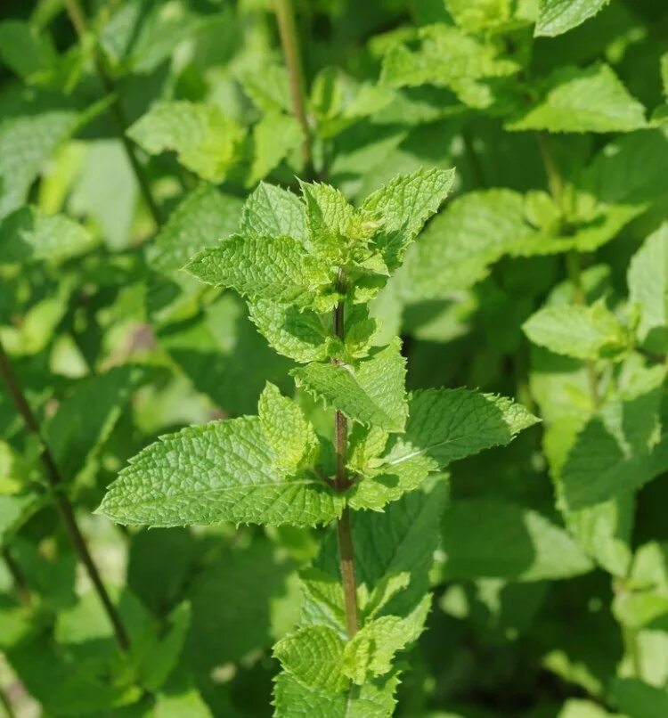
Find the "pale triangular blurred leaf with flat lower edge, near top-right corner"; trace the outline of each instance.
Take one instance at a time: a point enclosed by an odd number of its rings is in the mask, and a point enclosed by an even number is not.
[[[645,108],[606,64],[559,68],[534,107],[506,123],[509,130],[631,132],[646,126]]]

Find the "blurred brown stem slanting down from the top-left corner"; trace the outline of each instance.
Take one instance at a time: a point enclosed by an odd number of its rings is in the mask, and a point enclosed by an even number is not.
[[[81,40],[83,37],[85,37],[87,32],[86,17],[84,16],[84,13],[82,12],[77,0],[64,0],[64,2],[65,8],[69,15],[69,20],[71,21],[72,26],[76,30],[79,40]],[[104,68],[104,64],[97,50],[97,47],[94,47],[93,61],[95,65],[95,70],[97,71],[98,77],[100,78],[100,82],[102,83],[102,87],[104,88],[104,92],[112,96],[110,110],[111,116],[114,118],[114,123],[116,125],[116,134],[118,135],[118,139],[123,144],[123,149],[126,151],[127,159],[133,169],[137,184],[139,184],[139,190],[142,193],[143,200],[146,203],[146,206],[151,212],[153,221],[155,222],[155,224],[160,225],[162,224],[163,220],[159,210],[158,202],[155,200],[151,193],[151,184],[149,184],[149,179],[144,172],[142,163],[137,157],[137,153],[134,149],[134,144],[126,135],[126,129],[130,123],[126,118],[125,111],[121,107],[120,97],[118,96],[118,93],[116,91],[116,85],[113,79],[110,78],[110,75],[108,74],[107,70]]]

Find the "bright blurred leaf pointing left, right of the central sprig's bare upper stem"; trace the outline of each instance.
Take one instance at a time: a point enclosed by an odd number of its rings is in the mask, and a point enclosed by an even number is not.
[[[629,346],[626,330],[602,302],[547,306],[530,316],[522,329],[539,347],[575,359],[615,356]]]

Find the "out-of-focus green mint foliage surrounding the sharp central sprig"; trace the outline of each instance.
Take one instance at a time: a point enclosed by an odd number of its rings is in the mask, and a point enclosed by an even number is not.
[[[0,339],[62,477],[0,393],[0,710],[271,714],[322,532],[93,511],[155,437],[255,412],[267,380],[295,392],[244,303],[180,271],[259,181],[313,169],[355,201],[456,166],[374,299],[379,344],[401,334],[411,389],[515,396],[542,424],[402,504],[415,542],[438,536],[395,714],[668,714],[665,5],[297,3],[310,151],[273,4],[83,11],[0,8]]]

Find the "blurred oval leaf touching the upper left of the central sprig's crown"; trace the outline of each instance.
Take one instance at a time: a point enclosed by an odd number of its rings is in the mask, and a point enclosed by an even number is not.
[[[151,266],[175,273],[200,249],[216,245],[239,226],[241,202],[202,184],[188,194],[169,215],[148,250]]]

